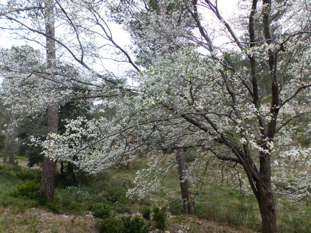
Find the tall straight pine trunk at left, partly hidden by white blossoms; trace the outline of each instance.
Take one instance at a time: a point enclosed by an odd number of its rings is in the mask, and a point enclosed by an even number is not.
[[[54,80],[53,75],[54,63],[56,60],[55,41],[54,38],[54,6],[53,2],[48,2],[45,5],[45,30],[46,30],[46,54],[47,54],[47,71],[49,79]],[[50,36],[50,37],[49,37]],[[47,134],[58,132],[58,104],[54,103],[48,107],[48,121],[47,121]],[[50,139],[53,140],[53,139]],[[48,201],[52,202],[54,197],[54,177],[55,177],[56,161],[53,161],[48,156],[44,157],[42,167],[42,177],[40,183],[40,190],[44,190]]]

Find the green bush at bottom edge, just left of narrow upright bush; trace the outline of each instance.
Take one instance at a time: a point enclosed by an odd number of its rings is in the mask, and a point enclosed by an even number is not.
[[[122,233],[148,233],[149,226],[145,225],[144,219],[136,215],[135,217],[131,218],[122,217],[123,222],[123,231]]]

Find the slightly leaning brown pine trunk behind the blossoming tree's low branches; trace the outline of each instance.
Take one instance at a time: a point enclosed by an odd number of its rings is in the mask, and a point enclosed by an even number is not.
[[[183,154],[183,148],[177,148],[176,152],[179,183],[181,188],[181,195],[183,198],[183,214],[195,214],[195,202],[191,197],[190,183],[187,179],[187,165]]]

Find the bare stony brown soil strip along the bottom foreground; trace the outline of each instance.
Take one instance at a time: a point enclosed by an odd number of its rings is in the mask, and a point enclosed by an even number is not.
[[[29,208],[23,213],[12,209],[2,209],[2,221],[11,222],[13,229],[5,229],[0,225],[1,233],[96,233],[96,219],[92,214],[81,216],[54,214],[43,208]],[[156,232],[156,231],[153,231]],[[229,225],[215,221],[207,221],[187,216],[170,216],[165,233],[255,233],[241,226]]]

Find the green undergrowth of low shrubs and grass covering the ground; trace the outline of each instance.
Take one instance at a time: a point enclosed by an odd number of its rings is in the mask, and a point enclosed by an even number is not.
[[[109,228],[109,232],[112,233],[124,232],[124,225],[135,225],[137,229],[141,229],[141,232],[151,225],[152,229],[165,229],[166,224],[169,227],[170,222],[166,222],[164,209],[152,205],[154,203],[160,203],[160,206],[167,205],[171,214],[181,214],[183,201],[180,197],[176,172],[172,172],[163,186],[145,199],[129,199],[125,194],[128,188],[133,187],[132,178],[135,176],[137,167],[142,167],[142,164],[137,161],[130,165],[129,170],[121,167],[119,173],[115,168],[97,175],[77,172],[79,184],[75,185],[70,185],[66,180],[60,181],[59,179],[64,178],[57,173],[54,201],[47,203],[44,194],[39,191],[41,175],[39,170],[3,164],[0,166],[0,214],[4,208],[9,209],[9,213],[13,214],[23,213],[33,207],[43,207],[51,212],[72,215],[82,215],[91,211],[94,217],[102,219],[97,224],[99,231],[101,232],[102,229],[102,232],[108,232],[104,229]],[[245,226],[257,232],[261,230],[256,199],[241,195],[229,185],[219,185],[206,180],[202,186],[202,195],[196,199],[196,208],[196,216],[192,217]],[[310,200],[304,206],[294,207],[291,212],[285,212],[288,208],[286,203],[278,206],[280,211],[277,213],[277,232],[311,232]],[[119,217],[120,213],[130,214],[138,211],[142,213],[143,218],[121,219]],[[27,220],[21,219],[20,223],[24,224],[23,222]],[[3,226],[8,225],[2,220],[0,223]],[[39,229],[34,223],[27,222],[28,226],[33,224],[29,229]],[[26,228],[24,230],[27,231]]]

